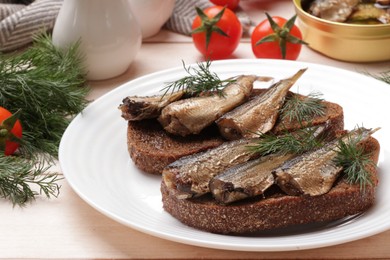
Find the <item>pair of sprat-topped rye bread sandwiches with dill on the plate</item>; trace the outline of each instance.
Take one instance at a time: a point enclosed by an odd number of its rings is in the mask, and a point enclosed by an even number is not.
[[[182,223],[248,234],[360,214],[375,201],[378,129],[344,129],[343,109],[258,75],[220,80],[200,63],[158,96],[129,96],[135,165],[162,174],[164,209]],[[189,72],[190,68],[186,68]]]

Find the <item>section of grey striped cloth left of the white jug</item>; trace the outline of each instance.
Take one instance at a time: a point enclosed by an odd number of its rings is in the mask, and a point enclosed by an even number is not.
[[[0,0],[0,51],[31,43],[34,35],[53,29],[62,0]]]

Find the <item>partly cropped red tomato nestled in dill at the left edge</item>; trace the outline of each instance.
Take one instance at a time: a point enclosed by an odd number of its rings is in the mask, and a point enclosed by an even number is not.
[[[12,115],[7,109],[0,107],[0,150],[3,150],[5,155],[13,154],[19,147],[19,142],[15,140],[22,138],[18,114],[19,112],[16,112]]]

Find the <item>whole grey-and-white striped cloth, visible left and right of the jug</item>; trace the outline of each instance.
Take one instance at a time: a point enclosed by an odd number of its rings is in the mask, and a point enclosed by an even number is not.
[[[50,32],[63,0],[0,0],[0,52],[12,51],[31,43],[34,35]],[[165,24],[168,30],[191,34],[195,6],[212,6],[209,0],[176,0],[173,14]],[[244,32],[251,25],[248,16],[236,12]]]

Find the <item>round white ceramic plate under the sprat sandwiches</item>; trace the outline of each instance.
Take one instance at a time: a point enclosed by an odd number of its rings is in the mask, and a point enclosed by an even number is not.
[[[108,217],[142,232],[181,243],[243,251],[283,251],[324,247],[357,240],[390,228],[390,86],[368,76],[332,67],[279,60],[215,61],[221,78],[238,74],[276,79],[308,70],[293,91],[320,91],[344,107],[345,126],[382,127],[374,136],[382,146],[376,204],[368,212],[327,225],[307,225],[256,236],[211,234],[181,224],[162,209],[159,176],[139,171],[127,153],[126,122],[118,105],[128,95],[158,94],[164,83],[185,72],[182,67],[127,82],[91,103],[70,124],[60,145],[60,165],[77,194]]]

